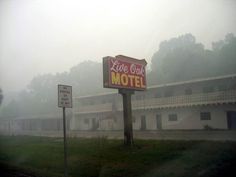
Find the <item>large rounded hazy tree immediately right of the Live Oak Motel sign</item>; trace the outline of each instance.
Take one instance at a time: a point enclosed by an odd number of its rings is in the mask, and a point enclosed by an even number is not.
[[[206,64],[204,46],[185,34],[160,44],[152,57],[151,82],[165,83],[188,80],[203,75]]]

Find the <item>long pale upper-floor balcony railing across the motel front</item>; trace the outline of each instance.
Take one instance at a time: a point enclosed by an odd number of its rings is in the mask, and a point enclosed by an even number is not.
[[[138,110],[226,103],[236,103],[236,90],[133,100],[132,108]],[[77,113],[110,112],[112,110],[123,110],[122,102],[115,103],[114,105],[112,103],[106,103],[75,108],[75,112]]]

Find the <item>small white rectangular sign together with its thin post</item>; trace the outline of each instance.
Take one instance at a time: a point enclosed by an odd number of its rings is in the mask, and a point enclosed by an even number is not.
[[[58,107],[63,111],[63,136],[64,136],[64,176],[68,177],[67,171],[67,141],[66,141],[66,108],[72,108],[72,87],[58,85]]]

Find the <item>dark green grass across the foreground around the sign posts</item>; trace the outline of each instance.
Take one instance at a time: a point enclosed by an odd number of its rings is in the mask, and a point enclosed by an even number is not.
[[[0,164],[35,176],[63,176],[63,139],[0,136]],[[234,176],[236,142],[68,139],[70,177]]]

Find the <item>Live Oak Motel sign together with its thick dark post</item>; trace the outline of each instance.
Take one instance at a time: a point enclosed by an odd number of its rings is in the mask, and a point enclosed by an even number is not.
[[[145,60],[118,55],[103,58],[103,86],[117,88],[123,97],[124,144],[133,145],[131,95],[146,90]]]

